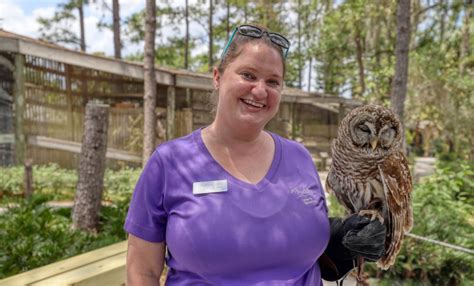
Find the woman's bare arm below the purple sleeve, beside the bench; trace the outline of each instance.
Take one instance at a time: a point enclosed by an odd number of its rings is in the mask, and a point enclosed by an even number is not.
[[[165,243],[128,236],[127,285],[159,285],[165,263]]]

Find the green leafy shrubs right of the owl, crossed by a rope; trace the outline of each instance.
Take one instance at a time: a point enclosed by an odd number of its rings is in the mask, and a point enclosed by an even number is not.
[[[415,186],[415,225],[411,232],[474,249],[473,189],[472,163],[458,161],[439,165],[434,175]],[[369,267],[371,276],[375,276],[375,266]],[[432,285],[463,285],[462,281],[474,280],[474,258],[470,254],[406,237],[396,264],[377,276],[412,279]]]

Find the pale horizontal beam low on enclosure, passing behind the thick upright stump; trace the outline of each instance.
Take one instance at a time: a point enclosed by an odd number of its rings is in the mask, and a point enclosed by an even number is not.
[[[72,153],[81,153],[82,144],[79,142],[61,140],[56,138],[44,137],[44,136],[29,136],[28,144],[37,147],[43,147],[48,149],[62,150]],[[105,155],[108,159],[122,160],[141,163],[141,157],[134,153],[118,150],[114,148],[107,148]]]

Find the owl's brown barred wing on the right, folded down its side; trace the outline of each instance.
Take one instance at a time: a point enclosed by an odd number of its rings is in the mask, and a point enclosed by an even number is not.
[[[385,255],[377,265],[387,269],[400,251],[405,231],[413,226],[411,208],[412,179],[408,162],[402,152],[388,156],[379,166],[388,207]]]

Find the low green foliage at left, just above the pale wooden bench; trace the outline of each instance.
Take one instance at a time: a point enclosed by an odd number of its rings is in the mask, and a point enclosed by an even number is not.
[[[35,195],[0,214],[0,279],[126,239],[128,202],[103,207],[98,235],[71,229],[70,209],[51,209]]]

